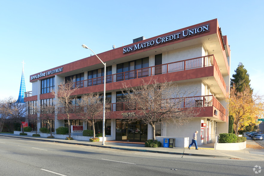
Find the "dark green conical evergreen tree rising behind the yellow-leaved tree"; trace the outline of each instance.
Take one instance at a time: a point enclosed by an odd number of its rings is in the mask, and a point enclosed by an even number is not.
[[[238,67],[235,70],[235,74],[233,74],[233,79],[230,79],[230,86],[231,88],[236,85],[237,92],[243,92],[245,87],[250,88],[250,92],[253,92],[253,89],[250,87],[250,79],[248,71],[244,68],[244,65],[239,62]]]

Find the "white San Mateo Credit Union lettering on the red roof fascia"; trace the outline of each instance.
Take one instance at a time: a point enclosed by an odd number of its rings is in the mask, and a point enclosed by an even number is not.
[[[180,40],[180,39],[183,39],[185,37],[190,37],[190,36],[198,35],[198,34],[209,32],[209,31],[210,31],[210,25],[206,24],[206,25],[201,25],[201,26],[195,27],[195,28],[186,29],[184,31],[176,32],[174,34],[166,35],[164,37],[158,37],[154,40],[147,40],[146,42],[143,40],[144,42],[142,42],[142,43],[138,43],[138,44],[135,44],[135,45],[132,45],[129,47],[124,47],[123,48],[123,54],[127,54],[127,53],[133,52],[133,51],[137,51],[139,49],[148,48],[151,46],[171,42],[174,40]]]

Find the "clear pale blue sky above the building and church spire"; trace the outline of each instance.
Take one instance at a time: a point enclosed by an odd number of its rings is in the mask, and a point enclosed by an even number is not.
[[[264,1],[0,1],[0,100],[17,99],[30,75],[211,19],[231,49],[231,78],[239,62],[254,92],[264,95]]]

